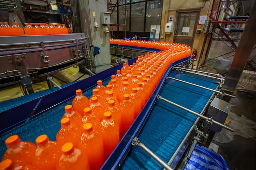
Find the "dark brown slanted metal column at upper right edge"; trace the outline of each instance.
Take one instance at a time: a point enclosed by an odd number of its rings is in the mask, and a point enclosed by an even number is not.
[[[252,52],[252,48],[256,42],[256,2],[252,6],[252,11],[245,25],[245,30],[238,44],[238,48],[234,55],[234,58],[229,67],[226,80],[223,84],[222,90],[226,91],[229,94],[237,95],[238,90],[236,86],[240,79],[240,76],[243,73],[245,65],[249,59],[249,56]]]

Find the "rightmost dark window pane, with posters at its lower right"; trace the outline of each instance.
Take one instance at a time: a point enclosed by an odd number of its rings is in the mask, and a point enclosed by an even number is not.
[[[145,32],[150,32],[151,25],[160,25],[162,16],[162,0],[147,2],[146,28]]]

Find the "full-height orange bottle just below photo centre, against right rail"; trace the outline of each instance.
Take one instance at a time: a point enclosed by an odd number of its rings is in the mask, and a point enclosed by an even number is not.
[[[124,99],[120,102],[119,108],[122,115],[122,129],[128,130],[135,118],[135,108],[129,99],[128,94],[124,94]]]

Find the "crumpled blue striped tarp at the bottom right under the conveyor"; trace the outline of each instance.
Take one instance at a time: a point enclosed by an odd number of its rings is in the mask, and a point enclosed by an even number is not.
[[[229,170],[229,168],[220,154],[197,145],[184,170]]]

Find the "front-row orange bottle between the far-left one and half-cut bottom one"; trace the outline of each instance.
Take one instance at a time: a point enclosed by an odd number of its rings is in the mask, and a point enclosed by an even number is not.
[[[40,135],[36,138],[36,145],[33,166],[38,170],[56,170],[56,164],[61,157],[57,143],[49,141],[47,135]]]

